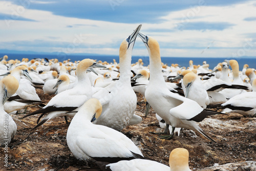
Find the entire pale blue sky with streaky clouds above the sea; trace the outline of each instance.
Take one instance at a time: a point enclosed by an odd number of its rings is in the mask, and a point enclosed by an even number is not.
[[[165,57],[256,56],[256,2],[0,1],[0,50],[118,55],[142,24]],[[138,38],[133,55],[147,51]]]

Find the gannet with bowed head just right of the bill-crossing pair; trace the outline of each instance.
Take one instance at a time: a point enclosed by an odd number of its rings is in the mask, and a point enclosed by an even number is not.
[[[183,84],[186,88],[185,97],[196,101],[202,108],[206,109],[210,101],[200,78],[194,72],[189,72],[184,76]]]

